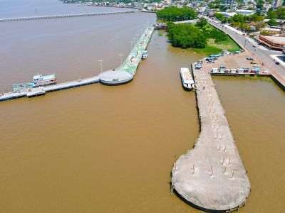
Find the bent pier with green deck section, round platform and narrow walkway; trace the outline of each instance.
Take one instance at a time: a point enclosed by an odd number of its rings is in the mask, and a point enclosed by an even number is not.
[[[44,87],[26,87],[26,85],[31,85],[32,83],[17,84],[17,86],[23,85],[23,87],[18,87],[17,89],[14,89],[13,92],[0,94],[0,102],[21,97],[39,96],[46,94],[47,92],[55,92],[63,89],[81,87],[98,82],[108,85],[118,85],[129,82],[130,80],[133,80],[137,67],[141,61],[142,53],[145,53],[145,48],[147,48],[147,44],[150,41],[153,30],[154,25],[150,24],[147,26],[145,32],[138,40],[138,43],[135,44],[133,50],[130,52],[130,55],[128,55],[128,58],[125,60],[125,62],[123,62],[122,65],[120,65],[120,67],[115,70],[102,72],[100,75],[88,77],[86,79],[63,82],[59,84],[51,84]]]

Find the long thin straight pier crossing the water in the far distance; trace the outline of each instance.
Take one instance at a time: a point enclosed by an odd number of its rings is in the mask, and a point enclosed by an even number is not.
[[[106,13],[80,13],[80,14],[66,14],[66,15],[54,15],[54,16],[31,16],[31,17],[18,17],[18,18],[0,18],[0,22],[8,21],[29,21],[39,19],[53,19],[53,18],[75,18],[75,17],[86,17],[86,16],[103,16],[103,15],[114,15],[121,13],[135,13],[136,11],[115,11]]]

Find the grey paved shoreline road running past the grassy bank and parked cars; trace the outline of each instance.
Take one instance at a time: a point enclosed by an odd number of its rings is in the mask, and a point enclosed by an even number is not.
[[[265,48],[263,45],[259,45],[255,40],[249,38],[246,35],[242,35],[240,31],[237,31],[234,28],[231,28],[227,25],[222,25],[212,20],[208,20],[213,26],[219,28],[220,30],[227,33],[229,36],[232,37],[242,48],[245,48],[249,51],[254,57],[259,58],[261,63],[263,62],[265,67],[269,70],[274,70],[277,72],[284,80],[285,80],[285,62],[280,62],[280,65],[276,65],[274,62],[273,55],[283,55],[281,51],[276,50],[269,50]],[[245,42],[245,40],[248,40]],[[254,48],[253,45],[257,45],[257,48]],[[257,49],[258,51],[255,51]]]

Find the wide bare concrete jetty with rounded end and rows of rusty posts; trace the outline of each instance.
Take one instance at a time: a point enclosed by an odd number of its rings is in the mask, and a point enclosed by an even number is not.
[[[192,65],[192,70],[194,70]],[[209,70],[193,71],[201,132],[195,147],[175,163],[172,190],[197,209],[231,212],[251,190]]]

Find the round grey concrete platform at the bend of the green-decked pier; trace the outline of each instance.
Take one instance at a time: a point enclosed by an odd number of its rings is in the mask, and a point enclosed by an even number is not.
[[[133,75],[125,71],[106,71],[99,75],[99,81],[106,85],[120,85],[133,80]]]

